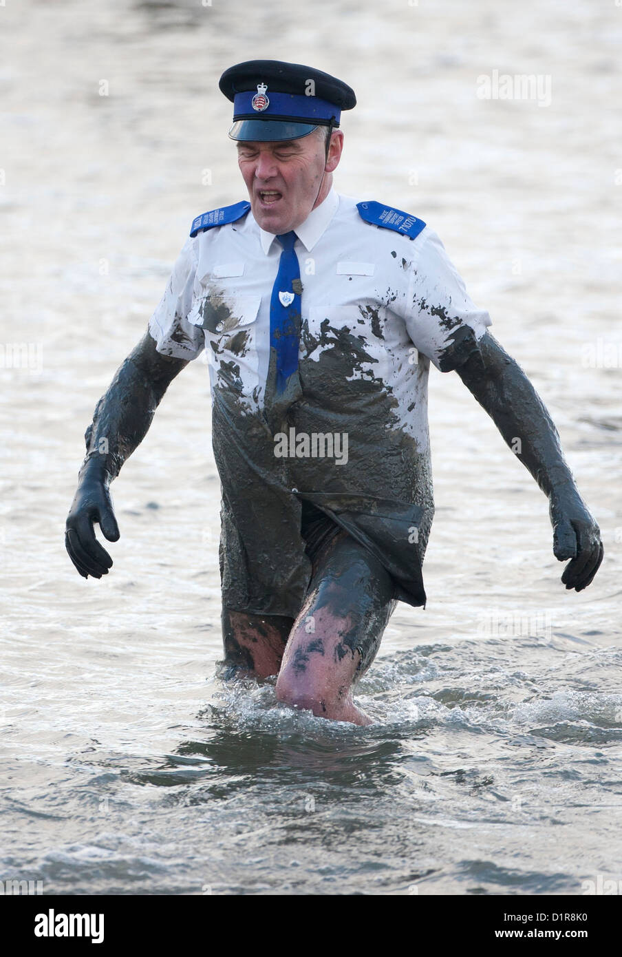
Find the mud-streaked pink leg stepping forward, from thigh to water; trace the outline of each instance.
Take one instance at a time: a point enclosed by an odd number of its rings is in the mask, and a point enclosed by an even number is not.
[[[395,605],[389,572],[340,532],[314,565],[283,655],[278,701],[333,721],[371,723],[352,689],[376,656]]]

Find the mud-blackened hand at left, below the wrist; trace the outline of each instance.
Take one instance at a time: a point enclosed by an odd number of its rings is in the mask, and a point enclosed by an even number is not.
[[[95,537],[95,522],[108,542],[118,541],[119,526],[108,488],[101,479],[85,476],[78,485],[65,531],[65,547],[83,578],[101,578],[112,568],[110,555]]]

